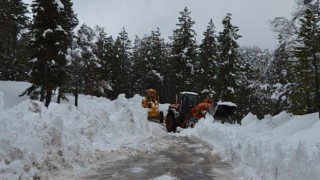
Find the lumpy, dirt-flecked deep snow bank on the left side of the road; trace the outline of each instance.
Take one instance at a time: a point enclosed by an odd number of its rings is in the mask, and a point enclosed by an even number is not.
[[[157,143],[139,145],[156,131],[150,128],[159,128],[148,123],[139,96],[81,96],[78,109],[56,103],[45,108],[32,100],[6,109],[6,96],[0,89],[0,179],[50,179],[48,172],[86,168],[115,150],[124,156],[152,151]]]

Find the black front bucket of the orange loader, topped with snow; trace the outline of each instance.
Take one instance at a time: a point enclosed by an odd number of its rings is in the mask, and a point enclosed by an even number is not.
[[[237,105],[231,102],[218,102],[214,104],[211,110],[213,118],[221,123],[235,123],[232,115],[236,111]]]

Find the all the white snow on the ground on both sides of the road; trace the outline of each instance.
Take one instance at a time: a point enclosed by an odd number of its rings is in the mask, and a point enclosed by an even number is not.
[[[140,96],[120,95],[114,101],[80,96],[79,108],[70,97],[69,102],[45,108],[38,101],[18,98],[26,87],[28,83],[0,81],[0,179],[54,179],[66,170],[82,171],[137,151],[168,148],[161,141],[168,133],[148,122]],[[320,177],[318,114],[282,112],[261,121],[248,114],[242,125],[216,123],[207,116],[194,129],[180,131],[170,135],[205,140],[245,179]]]

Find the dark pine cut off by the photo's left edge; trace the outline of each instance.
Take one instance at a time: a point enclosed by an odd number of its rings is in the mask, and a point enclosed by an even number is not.
[[[19,48],[23,30],[27,28],[27,5],[22,0],[3,0],[0,3],[0,79],[16,80],[23,76],[20,69],[25,69],[25,59]],[[19,73],[20,72],[20,73]]]

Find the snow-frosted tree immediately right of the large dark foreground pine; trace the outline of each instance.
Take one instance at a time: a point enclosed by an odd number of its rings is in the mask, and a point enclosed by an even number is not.
[[[78,106],[79,94],[107,96],[110,89],[105,77],[109,68],[107,59],[108,39],[103,28],[92,29],[82,24],[74,36],[71,48],[68,49],[68,73],[70,81],[66,91],[75,96]],[[98,32],[98,37],[96,33]],[[97,41],[95,41],[97,40]]]

